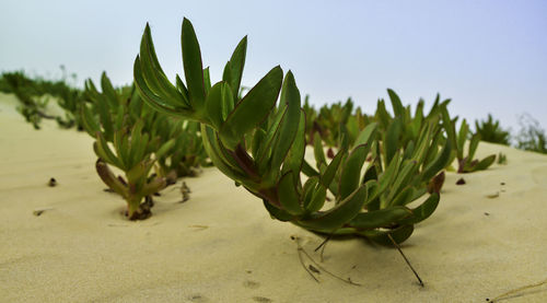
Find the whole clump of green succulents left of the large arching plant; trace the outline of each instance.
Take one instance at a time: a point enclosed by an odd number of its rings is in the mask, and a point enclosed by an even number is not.
[[[135,86],[116,90],[105,73],[101,86],[102,92],[86,81],[91,106],[81,109],[84,128],[95,138],[97,174],[127,201],[130,220],[146,219],[153,194],[177,177],[194,175],[205,163],[201,139],[195,124],[175,121],[148,107]],[[125,176],[116,177],[108,165]]]

